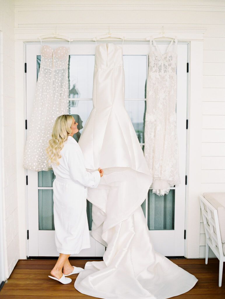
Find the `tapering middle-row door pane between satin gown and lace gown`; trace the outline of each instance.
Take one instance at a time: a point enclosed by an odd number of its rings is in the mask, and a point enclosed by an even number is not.
[[[134,126],[139,142],[143,143],[145,100],[125,100],[125,108]]]

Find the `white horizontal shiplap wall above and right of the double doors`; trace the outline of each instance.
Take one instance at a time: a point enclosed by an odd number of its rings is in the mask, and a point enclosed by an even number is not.
[[[203,41],[201,193],[225,191],[225,3],[224,1],[50,1],[15,0],[15,32],[18,39],[67,29],[82,39],[91,28],[90,39],[125,28],[132,39],[137,32],[164,26],[206,29]],[[74,28],[74,33],[71,28]],[[97,28],[96,30],[94,28]],[[101,30],[102,28],[102,30]],[[113,31],[111,30],[111,31]],[[24,37],[24,38],[23,38]],[[192,47],[192,45],[191,45]],[[22,57],[21,57],[22,59]],[[191,69],[190,64],[190,69]],[[190,124],[191,125],[191,124]],[[200,213],[199,213],[200,215]],[[205,234],[200,226],[199,256],[204,256]],[[210,253],[211,254],[211,253]],[[198,257],[196,255],[196,257]]]

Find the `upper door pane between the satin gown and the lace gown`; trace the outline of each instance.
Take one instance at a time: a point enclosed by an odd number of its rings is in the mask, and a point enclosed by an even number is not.
[[[123,55],[125,99],[145,99],[146,55]]]

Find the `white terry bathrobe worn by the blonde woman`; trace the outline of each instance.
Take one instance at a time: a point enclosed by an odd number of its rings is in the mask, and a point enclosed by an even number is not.
[[[90,248],[87,187],[98,186],[100,173],[86,171],[81,148],[71,136],[60,154],[59,165],[52,165],[56,176],[53,182],[56,249],[59,253],[77,254]]]

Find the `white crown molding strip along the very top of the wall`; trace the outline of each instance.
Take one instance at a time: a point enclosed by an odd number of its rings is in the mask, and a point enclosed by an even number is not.
[[[14,0],[17,10],[29,8],[88,8],[103,10],[119,8],[120,10],[225,10],[224,0]]]

